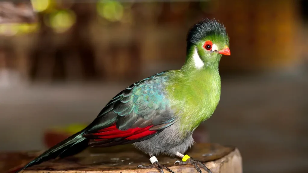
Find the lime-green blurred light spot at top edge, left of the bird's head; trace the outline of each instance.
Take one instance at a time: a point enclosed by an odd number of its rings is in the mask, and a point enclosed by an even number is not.
[[[100,0],[97,2],[97,12],[111,22],[119,21],[123,17],[123,5],[114,0]]]

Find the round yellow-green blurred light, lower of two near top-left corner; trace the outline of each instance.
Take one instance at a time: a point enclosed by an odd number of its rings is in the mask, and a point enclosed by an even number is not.
[[[50,26],[55,30],[55,32],[61,33],[65,32],[74,25],[76,21],[75,13],[71,10],[60,10],[51,14]]]

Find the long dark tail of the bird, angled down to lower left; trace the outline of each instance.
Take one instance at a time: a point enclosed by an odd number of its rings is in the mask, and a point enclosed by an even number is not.
[[[88,140],[82,136],[83,131],[80,131],[62,142],[58,143],[54,147],[51,147],[49,150],[45,151],[43,154],[39,155],[37,158],[32,160],[30,163],[26,164],[22,169],[26,169],[27,167],[42,163],[44,161],[55,159],[56,157],[66,157],[69,155],[76,154],[87,147]],[[16,173],[18,173],[17,171]]]

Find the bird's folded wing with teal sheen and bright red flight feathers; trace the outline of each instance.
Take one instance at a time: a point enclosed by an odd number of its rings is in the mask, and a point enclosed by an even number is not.
[[[168,71],[132,84],[116,95],[88,126],[89,145],[107,147],[151,138],[176,118],[166,97]]]

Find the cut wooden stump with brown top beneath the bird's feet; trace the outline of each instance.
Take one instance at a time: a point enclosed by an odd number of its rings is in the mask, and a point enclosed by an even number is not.
[[[219,144],[195,144],[187,153],[202,161],[213,173],[242,173],[240,152],[235,147]],[[160,164],[176,173],[197,173],[191,165],[173,165],[178,158],[158,156]],[[30,160],[28,160],[30,161]],[[23,162],[24,163],[24,162]],[[154,173],[156,169],[137,169],[149,165],[149,157],[132,145],[88,148],[78,155],[55,159],[30,167],[21,173]],[[164,171],[168,172],[168,171]],[[202,172],[206,172],[202,170]]]

